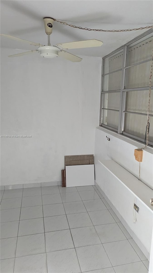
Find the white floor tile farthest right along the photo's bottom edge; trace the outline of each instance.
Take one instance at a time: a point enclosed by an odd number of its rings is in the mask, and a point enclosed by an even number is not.
[[[142,262],[114,266],[114,270],[116,273],[148,273],[148,270]]]

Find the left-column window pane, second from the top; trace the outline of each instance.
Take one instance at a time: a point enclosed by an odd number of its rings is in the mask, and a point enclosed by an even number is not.
[[[103,76],[104,78],[103,91],[120,90],[122,81],[121,77],[122,70]]]

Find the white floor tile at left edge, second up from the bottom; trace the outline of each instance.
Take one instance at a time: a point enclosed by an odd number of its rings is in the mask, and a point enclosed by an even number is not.
[[[16,252],[17,237],[1,239],[1,259],[14,258]]]

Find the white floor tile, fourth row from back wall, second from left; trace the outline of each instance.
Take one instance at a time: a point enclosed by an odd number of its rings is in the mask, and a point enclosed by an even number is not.
[[[32,235],[44,232],[43,218],[21,220],[18,236]]]

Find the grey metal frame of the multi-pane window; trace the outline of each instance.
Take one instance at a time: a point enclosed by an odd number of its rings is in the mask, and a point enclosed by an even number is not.
[[[102,58],[102,74],[101,74],[102,77],[101,77],[101,96],[100,96],[100,124],[99,125],[102,126],[102,127],[104,127],[104,128],[106,128],[106,129],[115,131],[118,134],[123,134],[123,135],[125,135],[125,136],[127,136],[129,138],[132,138],[134,140],[137,140],[137,141],[139,141],[141,143],[144,143],[145,140],[142,139],[142,138],[140,138],[140,137],[138,137],[138,136],[132,135],[132,134],[127,133],[127,132],[124,132],[124,122],[125,122],[125,118],[124,117],[125,117],[125,113],[127,112],[127,111],[125,111],[125,106],[126,106],[126,92],[128,92],[128,91],[137,91],[137,90],[149,90],[149,86],[148,87],[138,87],[138,88],[125,88],[125,83],[126,83],[127,68],[133,67],[133,66],[136,66],[136,65],[139,65],[139,64],[142,64],[142,63],[146,63],[148,61],[151,61],[151,58],[150,58],[150,59],[147,59],[145,61],[141,61],[139,63],[127,66],[127,63],[128,63],[128,48],[129,48],[129,46],[131,44],[133,44],[134,42],[139,41],[140,39],[145,38],[147,35],[150,35],[150,34],[153,34],[153,29],[149,29],[148,31],[140,34],[136,38],[132,39],[128,43],[124,44],[120,48],[112,51],[110,54],[108,54],[108,55],[106,55],[105,57]],[[105,59],[108,58],[108,57],[111,57],[112,55],[114,55],[115,53],[118,53],[118,51],[121,51],[121,50],[123,50],[123,64],[122,64],[122,68],[118,69],[118,70],[115,70],[115,71],[112,71],[112,72],[109,72],[109,73],[103,74]],[[118,71],[122,71],[121,89],[120,90],[103,91],[103,85],[104,85],[104,80],[103,79],[104,79],[104,76],[112,74],[114,72],[118,72]],[[120,110],[119,110],[118,130],[115,129],[115,128],[113,128],[113,127],[110,127],[110,126],[107,126],[105,124],[102,124],[103,109],[104,109],[103,108],[103,94],[105,94],[105,93],[116,93],[116,92],[120,92]],[[113,110],[113,109],[111,109],[111,110]],[[147,114],[144,114],[144,113],[137,113],[137,112],[132,112],[132,114],[147,115]],[[153,115],[150,114],[150,116],[153,116]],[[149,141],[148,144],[150,146],[153,146],[153,142]]]

